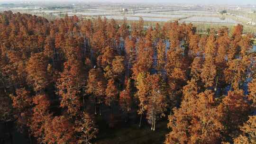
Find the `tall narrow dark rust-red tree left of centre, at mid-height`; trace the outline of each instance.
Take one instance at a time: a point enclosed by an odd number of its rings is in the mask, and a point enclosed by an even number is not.
[[[80,99],[85,83],[83,74],[82,63],[70,57],[64,63],[64,72],[57,80],[58,94],[62,97],[61,107],[67,108],[67,112],[72,116],[76,116],[82,106]]]

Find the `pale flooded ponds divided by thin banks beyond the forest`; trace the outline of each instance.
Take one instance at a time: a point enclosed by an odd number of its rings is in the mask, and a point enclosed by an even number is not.
[[[179,20],[181,22],[198,22],[198,23],[217,23],[217,24],[237,24],[237,20],[232,18],[220,18],[219,12],[213,9],[202,9],[192,6],[170,6],[165,8],[113,8],[113,7],[99,7],[99,8],[68,8],[68,7],[53,7],[53,8],[31,8],[31,7],[16,7],[3,8],[0,11],[12,10],[21,13],[30,13],[34,15],[43,15],[45,17],[63,17],[79,16],[83,18],[97,18],[106,17],[117,20],[127,18],[127,20],[138,20],[143,18],[145,21],[167,22],[170,20]]]

